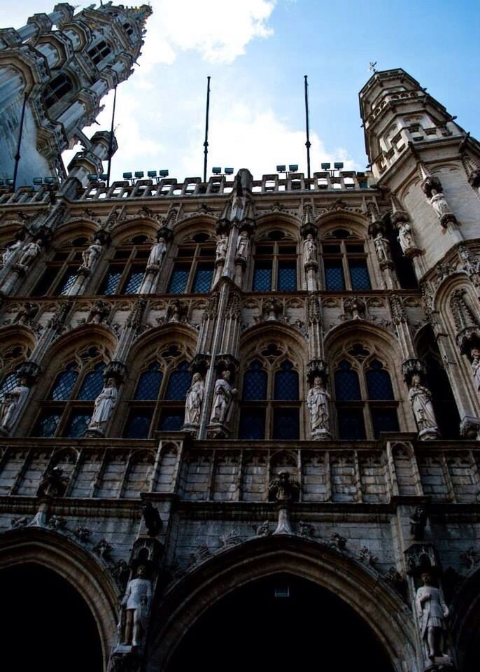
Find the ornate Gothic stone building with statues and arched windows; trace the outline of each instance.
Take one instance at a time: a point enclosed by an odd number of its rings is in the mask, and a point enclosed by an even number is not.
[[[395,69],[360,92],[369,172],[107,187],[99,132],[62,174],[146,14],[62,3],[0,34],[11,123],[36,101],[0,188],[19,668],[472,672],[480,146]]]

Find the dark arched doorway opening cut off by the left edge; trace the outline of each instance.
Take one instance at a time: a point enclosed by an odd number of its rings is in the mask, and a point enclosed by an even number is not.
[[[18,670],[102,672],[94,616],[73,585],[37,563],[0,570],[3,650]]]

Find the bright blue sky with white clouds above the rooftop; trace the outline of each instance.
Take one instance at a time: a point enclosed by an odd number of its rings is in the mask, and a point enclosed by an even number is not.
[[[22,25],[53,0],[0,0],[0,25]],[[89,2],[80,2],[79,8]],[[480,137],[479,3],[473,0],[152,0],[143,55],[118,88],[113,176],[203,166],[211,76],[209,167],[305,168],[303,76],[309,75],[312,169],[365,169],[358,91],[377,69],[402,67]],[[109,128],[111,97],[99,116]],[[87,135],[98,130],[87,130]],[[71,153],[70,153],[71,155]]]

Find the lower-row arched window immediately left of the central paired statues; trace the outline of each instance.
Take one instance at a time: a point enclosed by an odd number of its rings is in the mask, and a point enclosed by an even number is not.
[[[178,349],[157,355],[139,374],[123,431],[127,438],[143,439],[155,430],[178,431],[183,426],[185,396],[192,381],[190,367]]]

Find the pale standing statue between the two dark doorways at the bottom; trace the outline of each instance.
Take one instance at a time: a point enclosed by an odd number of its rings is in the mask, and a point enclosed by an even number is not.
[[[122,644],[126,646],[139,646],[146,631],[148,610],[152,601],[152,582],[144,578],[145,575],[145,565],[139,565],[136,570],[137,577],[128,582],[122,599],[119,629]]]

